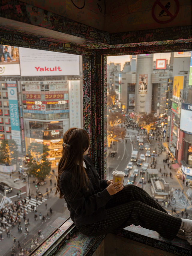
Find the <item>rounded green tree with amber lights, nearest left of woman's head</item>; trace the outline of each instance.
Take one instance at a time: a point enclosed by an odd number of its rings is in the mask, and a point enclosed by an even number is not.
[[[50,173],[51,163],[47,159],[48,146],[41,143],[31,143],[28,148],[27,167],[30,175],[38,179],[45,179]]]

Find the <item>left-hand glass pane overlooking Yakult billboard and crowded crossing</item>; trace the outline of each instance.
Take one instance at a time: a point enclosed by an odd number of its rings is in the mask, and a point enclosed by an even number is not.
[[[54,193],[62,136],[83,127],[82,56],[0,47],[1,255],[14,237],[28,255],[69,217]]]

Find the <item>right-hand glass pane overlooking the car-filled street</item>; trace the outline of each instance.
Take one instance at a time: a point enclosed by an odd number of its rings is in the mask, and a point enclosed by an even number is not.
[[[107,58],[107,178],[187,217],[192,187],[191,52]]]

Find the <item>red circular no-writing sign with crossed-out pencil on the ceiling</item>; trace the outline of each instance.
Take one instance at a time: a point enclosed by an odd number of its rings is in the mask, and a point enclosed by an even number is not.
[[[152,17],[158,23],[169,23],[174,20],[179,13],[179,2],[178,0],[169,0],[167,1],[166,5],[162,4],[161,2],[165,3],[164,0],[157,0],[153,5]],[[167,20],[162,20],[162,18],[165,19],[165,17],[167,17]]]

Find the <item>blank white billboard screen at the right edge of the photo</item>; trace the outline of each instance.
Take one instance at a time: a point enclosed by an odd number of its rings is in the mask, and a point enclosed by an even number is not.
[[[180,130],[192,133],[192,111],[181,109]]]

